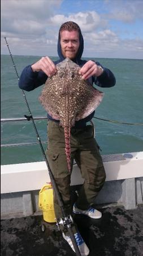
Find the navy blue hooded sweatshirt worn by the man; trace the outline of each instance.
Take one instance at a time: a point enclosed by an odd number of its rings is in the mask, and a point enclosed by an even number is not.
[[[83,50],[84,50],[84,39],[83,39],[83,35],[81,34],[81,31],[80,31],[79,50],[77,52],[76,58],[74,60],[72,60],[75,63],[77,63],[80,67],[83,67],[83,65],[87,61],[87,60],[81,60]],[[54,61],[55,65],[65,59],[65,57],[62,54],[62,49],[60,46],[60,33],[59,33],[59,37],[58,37],[58,55],[59,55],[59,60]],[[96,62],[96,64],[101,65],[98,62]],[[100,87],[114,86],[116,83],[116,80],[115,80],[113,73],[105,67],[103,67],[103,69],[104,69],[104,71],[101,74],[101,76],[89,77],[88,80],[89,80],[90,84],[93,84],[93,82],[94,82],[96,85],[98,85]],[[21,76],[19,79],[19,88],[23,89],[23,90],[27,90],[29,92],[31,90],[36,89],[38,86],[45,84],[46,80],[47,80],[47,75],[43,71],[33,72],[31,65],[28,65],[27,67],[25,67],[23,69],[23,72],[21,73]],[[93,116],[94,116],[94,112],[92,112],[90,115],[88,115],[88,117],[81,119],[79,121],[76,121],[75,127],[76,128],[84,127],[86,125],[86,122],[89,122],[93,118]],[[53,120],[55,122],[59,122],[59,121],[53,119],[49,114],[47,114],[47,118],[50,120]]]

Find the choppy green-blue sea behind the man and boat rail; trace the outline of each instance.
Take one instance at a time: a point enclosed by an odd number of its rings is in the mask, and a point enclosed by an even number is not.
[[[41,56],[12,56],[20,76],[24,67],[39,60]],[[57,60],[58,57],[51,57]],[[111,88],[95,87],[105,93],[101,104],[92,119],[96,129],[96,141],[101,155],[143,151],[143,60],[137,59],[100,59],[116,77],[116,85]],[[38,97],[44,85],[24,92],[34,117],[46,117]],[[10,55],[1,55],[1,119],[24,118],[29,115],[19,89],[18,77]],[[100,119],[97,119],[100,118]],[[115,122],[112,122],[115,121]],[[47,147],[47,120],[34,121],[38,135]],[[127,124],[125,124],[127,123]],[[44,160],[41,147],[32,121],[1,122],[1,164],[40,162]],[[5,146],[7,144],[34,143],[23,146]],[[37,143],[37,144],[36,144]]]

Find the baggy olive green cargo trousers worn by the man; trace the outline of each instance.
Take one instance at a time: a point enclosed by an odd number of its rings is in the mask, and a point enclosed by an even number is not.
[[[59,192],[62,196],[65,208],[68,214],[72,214],[70,183],[71,174],[67,167],[67,158],[65,152],[64,129],[59,123],[48,121],[47,125],[47,150],[46,157],[49,166],[55,177]],[[98,192],[105,183],[106,174],[103,167],[99,147],[93,137],[93,126],[87,125],[82,129],[71,129],[71,170],[73,159],[80,168],[81,176],[84,179],[76,206],[79,209],[88,209],[94,204]],[[54,193],[54,210],[56,218],[62,216],[57,198]]]

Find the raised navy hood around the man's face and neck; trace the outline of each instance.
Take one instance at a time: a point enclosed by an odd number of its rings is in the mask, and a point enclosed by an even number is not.
[[[78,61],[81,59],[81,56],[82,56],[83,51],[84,51],[84,39],[83,39],[83,35],[81,34],[81,30],[80,30],[79,33],[80,33],[80,46],[79,46],[79,50],[77,52],[76,58],[74,60],[72,60],[72,61],[74,61],[77,64],[78,64]],[[60,46],[60,33],[59,33],[59,36],[58,36],[58,55],[59,55],[60,60],[64,60],[65,59],[65,57],[62,54],[62,49],[61,49],[61,46]]]

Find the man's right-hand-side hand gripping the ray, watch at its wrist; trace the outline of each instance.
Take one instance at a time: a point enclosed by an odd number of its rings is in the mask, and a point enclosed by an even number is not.
[[[94,61],[89,60],[80,69],[79,74],[82,75],[82,79],[86,80],[90,76],[100,76],[102,71]]]

